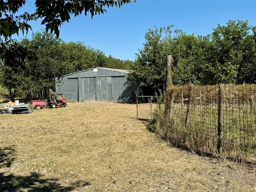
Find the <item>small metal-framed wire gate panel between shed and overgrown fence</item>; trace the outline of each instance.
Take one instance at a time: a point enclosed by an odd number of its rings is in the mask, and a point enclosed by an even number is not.
[[[137,118],[151,120],[157,107],[155,96],[137,96]]]

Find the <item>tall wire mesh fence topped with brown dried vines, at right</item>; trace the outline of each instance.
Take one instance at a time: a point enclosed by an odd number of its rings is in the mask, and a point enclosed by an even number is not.
[[[181,86],[166,94],[168,137],[203,152],[256,153],[256,86]]]

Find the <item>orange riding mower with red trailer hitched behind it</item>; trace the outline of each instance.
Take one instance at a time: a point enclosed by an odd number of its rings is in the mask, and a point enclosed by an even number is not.
[[[48,98],[45,100],[31,100],[30,103],[34,106],[34,109],[42,109],[42,108],[58,108],[58,107],[67,107],[68,104],[66,99],[63,97],[58,97],[53,99]]]

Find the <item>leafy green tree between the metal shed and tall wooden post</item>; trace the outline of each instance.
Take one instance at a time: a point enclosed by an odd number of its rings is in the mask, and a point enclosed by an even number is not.
[[[132,67],[133,72],[128,79],[144,90],[151,90],[154,94],[158,89],[164,89],[166,76],[166,55],[168,44],[164,34],[171,34],[169,26],[159,30],[150,30],[145,34],[146,42],[143,48],[136,54],[136,60]],[[153,93],[152,93],[153,92]]]

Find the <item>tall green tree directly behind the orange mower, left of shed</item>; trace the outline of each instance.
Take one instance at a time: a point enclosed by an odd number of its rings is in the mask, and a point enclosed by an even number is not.
[[[30,76],[34,82],[34,92],[42,98],[46,98],[48,88],[55,87],[53,78],[62,70],[62,62],[59,58],[62,52],[60,44],[62,40],[56,39],[53,34],[36,32],[26,45],[36,55],[36,60],[29,61]]]

